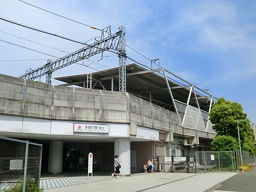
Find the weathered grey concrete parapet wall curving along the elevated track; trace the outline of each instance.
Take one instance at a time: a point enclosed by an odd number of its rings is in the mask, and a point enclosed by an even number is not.
[[[192,116],[196,110],[193,109]],[[173,134],[214,138],[215,133],[182,127],[180,115],[128,93],[60,87],[0,74],[0,114],[41,119],[130,124]],[[189,124],[188,124],[189,125]]]

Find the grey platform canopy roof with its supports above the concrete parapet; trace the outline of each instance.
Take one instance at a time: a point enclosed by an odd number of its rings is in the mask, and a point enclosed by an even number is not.
[[[88,79],[91,76],[92,81],[87,82],[87,75]],[[113,87],[113,91],[119,91],[119,67],[54,79],[65,82],[58,86],[76,85],[89,88],[91,83],[92,89],[111,91]],[[174,112],[183,111],[182,104],[208,112],[217,99],[209,94],[209,90],[201,90],[168,70],[161,67],[149,69],[134,63],[126,65],[126,92]]]

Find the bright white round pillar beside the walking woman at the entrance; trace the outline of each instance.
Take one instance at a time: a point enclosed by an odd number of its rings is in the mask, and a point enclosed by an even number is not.
[[[120,176],[131,175],[131,145],[130,138],[116,138],[114,144],[115,155],[118,155],[120,165]]]

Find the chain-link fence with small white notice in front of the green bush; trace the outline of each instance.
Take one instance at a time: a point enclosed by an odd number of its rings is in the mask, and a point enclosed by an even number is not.
[[[197,172],[235,172],[236,157],[233,151],[197,151]]]

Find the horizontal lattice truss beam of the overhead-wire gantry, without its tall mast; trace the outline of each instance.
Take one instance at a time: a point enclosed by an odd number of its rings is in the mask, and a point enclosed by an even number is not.
[[[23,74],[22,76],[19,76],[20,78],[23,79],[29,79],[29,80],[34,80],[37,79],[41,76],[48,75],[50,77],[50,73],[59,70],[63,67],[67,67],[68,65],[74,64],[76,62],[79,62],[83,59],[87,59],[90,56],[96,55],[98,53],[104,52],[104,51],[110,51],[115,54],[120,55],[120,53],[123,53],[123,51],[120,52],[120,44],[122,44],[122,34],[123,32],[120,31],[122,28],[119,28],[119,31],[114,33],[113,35],[111,34],[111,26],[108,26],[105,28],[105,31],[102,31],[102,35],[100,40],[97,40],[93,44],[85,44],[85,47],[82,49],[77,50],[76,52],[70,53],[68,55],[65,55],[62,58],[58,58],[55,61],[52,62],[47,62],[42,67],[38,67],[35,70],[31,70],[28,73]],[[106,37],[104,37],[104,35]],[[125,45],[124,45],[125,46]],[[50,64],[50,67],[49,67]],[[47,78],[48,82],[50,84],[51,80]]]

